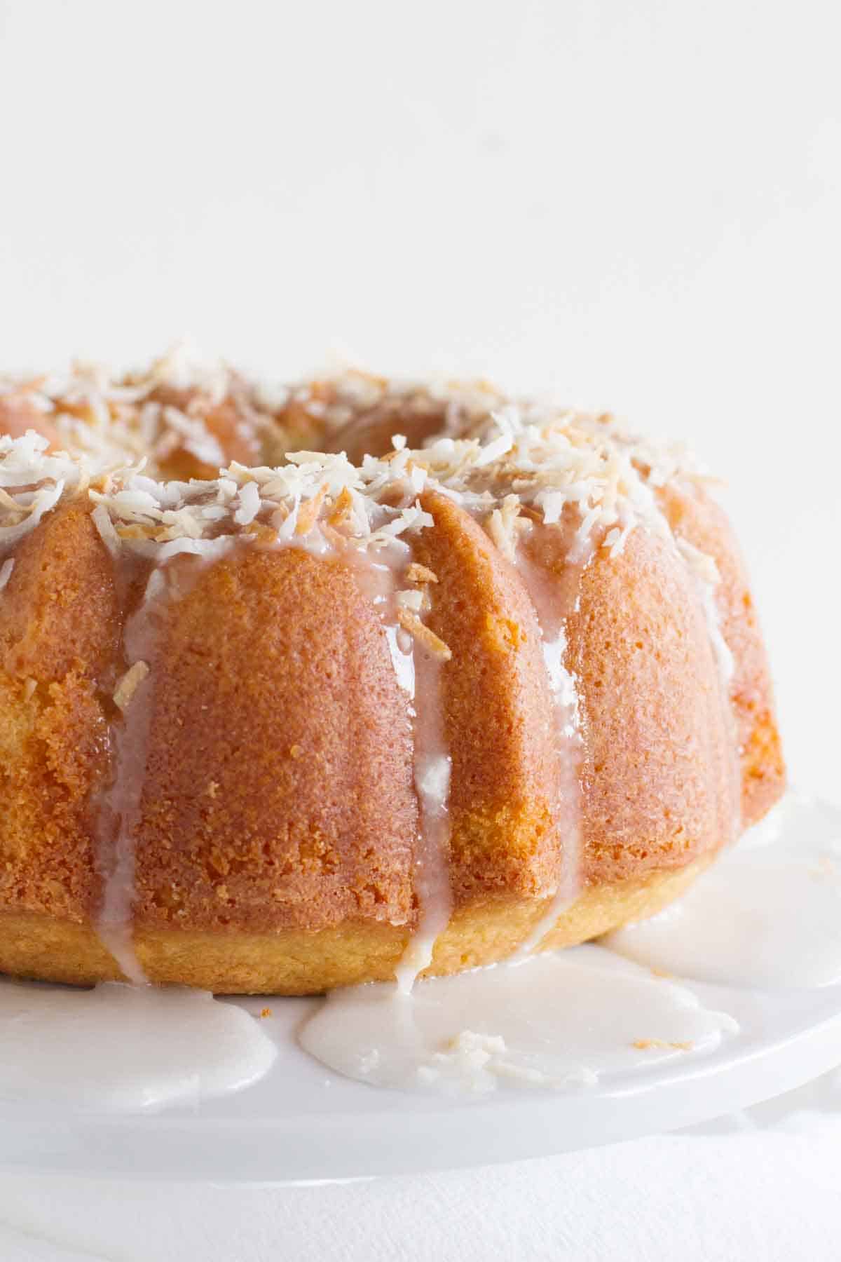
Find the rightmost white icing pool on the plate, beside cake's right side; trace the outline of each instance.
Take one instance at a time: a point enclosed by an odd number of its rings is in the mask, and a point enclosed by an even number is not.
[[[777,822],[777,837],[760,825],[764,834],[722,854],[680,901],[604,944],[725,986],[841,982],[841,811],[823,808],[816,819],[815,806],[793,803]]]

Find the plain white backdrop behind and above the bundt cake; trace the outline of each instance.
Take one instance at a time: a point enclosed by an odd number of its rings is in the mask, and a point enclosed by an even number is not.
[[[833,0],[0,0],[0,358],[339,345],[688,438],[838,796],[840,37]]]

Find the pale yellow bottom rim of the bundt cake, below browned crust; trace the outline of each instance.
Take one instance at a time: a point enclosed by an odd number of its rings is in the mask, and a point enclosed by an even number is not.
[[[696,859],[672,872],[651,872],[591,886],[559,916],[540,950],[588,941],[630,920],[656,915],[692,883]],[[485,899],[458,910],[435,943],[436,977],[504,959],[546,914],[546,900]],[[145,929],[135,946],[159,984],[197,986],[228,994],[314,994],[395,976],[407,934],[383,921],[343,921],[320,930]],[[76,986],[120,981],[120,970],[90,924],[0,911],[0,972]]]

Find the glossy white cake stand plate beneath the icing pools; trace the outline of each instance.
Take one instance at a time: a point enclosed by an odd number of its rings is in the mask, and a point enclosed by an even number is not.
[[[774,994],[691,988],[741,1026],[717,1051],[584,1092],[525,1088],[480,1100],[401,1094],[328,1074],[294,1040],[318,1001],[275,1001],[280,1055],[255,1087],[158,1114],[0,1100],[0,1167],[291,1184],[488,1165],[709,1121],[841,1063],[841,987]],[[261,1001],[245,1003],[256,1011]]]

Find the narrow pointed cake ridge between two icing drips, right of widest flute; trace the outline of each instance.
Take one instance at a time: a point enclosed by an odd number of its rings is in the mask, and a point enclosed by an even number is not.
[[[473,517],[441,495],[422,502],[435,524],[415,555],[438,579],[427,622],[453,654],[443,704],[455,904],[501,892],[540,899],[557,885],[564,842],[537,617]]]

